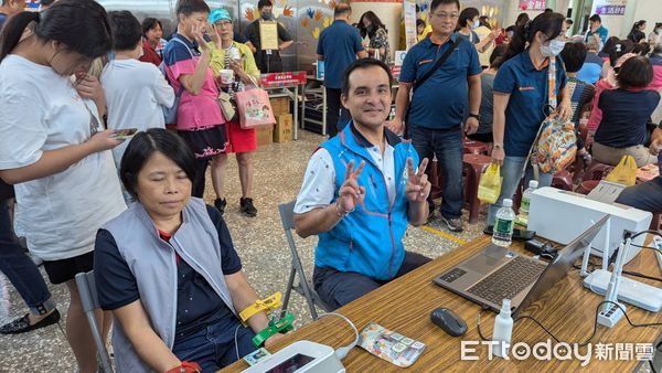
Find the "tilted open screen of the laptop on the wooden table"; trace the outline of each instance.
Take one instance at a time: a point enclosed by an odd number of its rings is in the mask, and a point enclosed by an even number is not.
[[[599,222],[581,233],[558,253],[554,262],[545,268],[541,277],[535,281],[531,291],[524,297],[513,316],[525,310],[532,302],[567,276],[570,268],[573,268],[573,264],[583,256],[586,247],[590,245],[608,220],[609,215],[605,215]]]

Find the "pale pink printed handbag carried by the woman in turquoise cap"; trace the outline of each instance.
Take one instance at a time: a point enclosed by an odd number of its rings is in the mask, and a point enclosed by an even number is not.
[[[239,126],[243,129],[249,129],[276,124],[269,94],[265,89],[258,88],[255,78],[248,76],[254,87],[235,94],[237,111],[239,113]]]

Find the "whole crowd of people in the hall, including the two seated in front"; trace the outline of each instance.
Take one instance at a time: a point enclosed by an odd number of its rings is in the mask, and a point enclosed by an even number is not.
[[[279,51],[293,39],[281,24],[278,50],[260,47],[259,22],[274,20],[273,3],[259,0],[260,17],[242,35],[228,10],[179,0],[168,40],[158,19],[140,22],[93,0],[23,7],[3,0],[0,9],[10,15],[0,17],[0,269],[30,311],[0,332],[61,318],[18,234],[49,280],[68,290],[66,337],[81,372],[95,372],[97,360],[74,277],[93,269],[97,317],[104,338],[113,324],[119,371],[215,371],[252,352],[269,320],[264,312],[238,319],[259,297],[223,214],[234,152],[241,212],[257,215],[256,132],[226,116],[218,99],[282,70]],[[586,33],[573,36],[573,22],[545,11],[493,29],[476,8],[433,0],[393,97],[386,26],[372,11],[355,25],[351,19],[351,7],[338,3],[319,36],[330,138],[311,156],[295,206],[297,233],[319,237],[313,285],[333,308],[430,260],[405,249],[408,225],[439,211],[449,231],[463,230],[466,138],[488,143],[501,166],[488,226],[521,180],[534,177],[528,156],[548,115],[581,131],[585,166],[613,166],[626,154],[638,166],[658,162],[660,23],[647,38],[645,22],[637,22],[621,40],[594,14]],[[175,126],[167,129],[173,108]],[[135,126],[130,141],[118,136]],[[427,174],[433,158],[444,180],[438,207]],[[202,199],[210,167],[212,205]],[[538,185],[552,178],[540,173]],[[662,212],[662,178],[626,189],[619,202]]]

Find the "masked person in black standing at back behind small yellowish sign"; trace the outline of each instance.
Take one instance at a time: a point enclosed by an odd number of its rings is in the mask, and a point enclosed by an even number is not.
[[[278,22],[278,50],[263,51],[259,35],[259,23],[264,21],[275,21],[274,19],[274,4],[271,0],[259,0],[257,3],[260,18],[253,21],[244,30],[244,35],[248,39],[246,45],[250,47],[253,54],[255,54],[255,62],[257,68],[264,73],[280,73],[282,72],[282,60],[280,58],[280,51],[289,47],[293,44],[292,36],[285,30],[282,24]]]

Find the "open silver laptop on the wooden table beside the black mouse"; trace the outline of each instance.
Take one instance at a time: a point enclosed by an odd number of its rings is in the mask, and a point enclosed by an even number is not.
[[[609,215],[605,215],[549,263],[490,245],[433,281],[494,311],[501,309],[503,299],[510,299],[513,315],[517,315],[567,276],[608,219]]]

